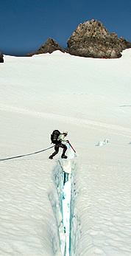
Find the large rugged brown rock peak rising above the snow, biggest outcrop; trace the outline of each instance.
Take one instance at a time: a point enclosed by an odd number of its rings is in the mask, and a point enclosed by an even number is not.
[[[71,55],[91,58],[120,58],[124,49],[131,48],[125,38],[118,39],[102,22],[92,19],[79,24],[67,41],[65,52]]]

